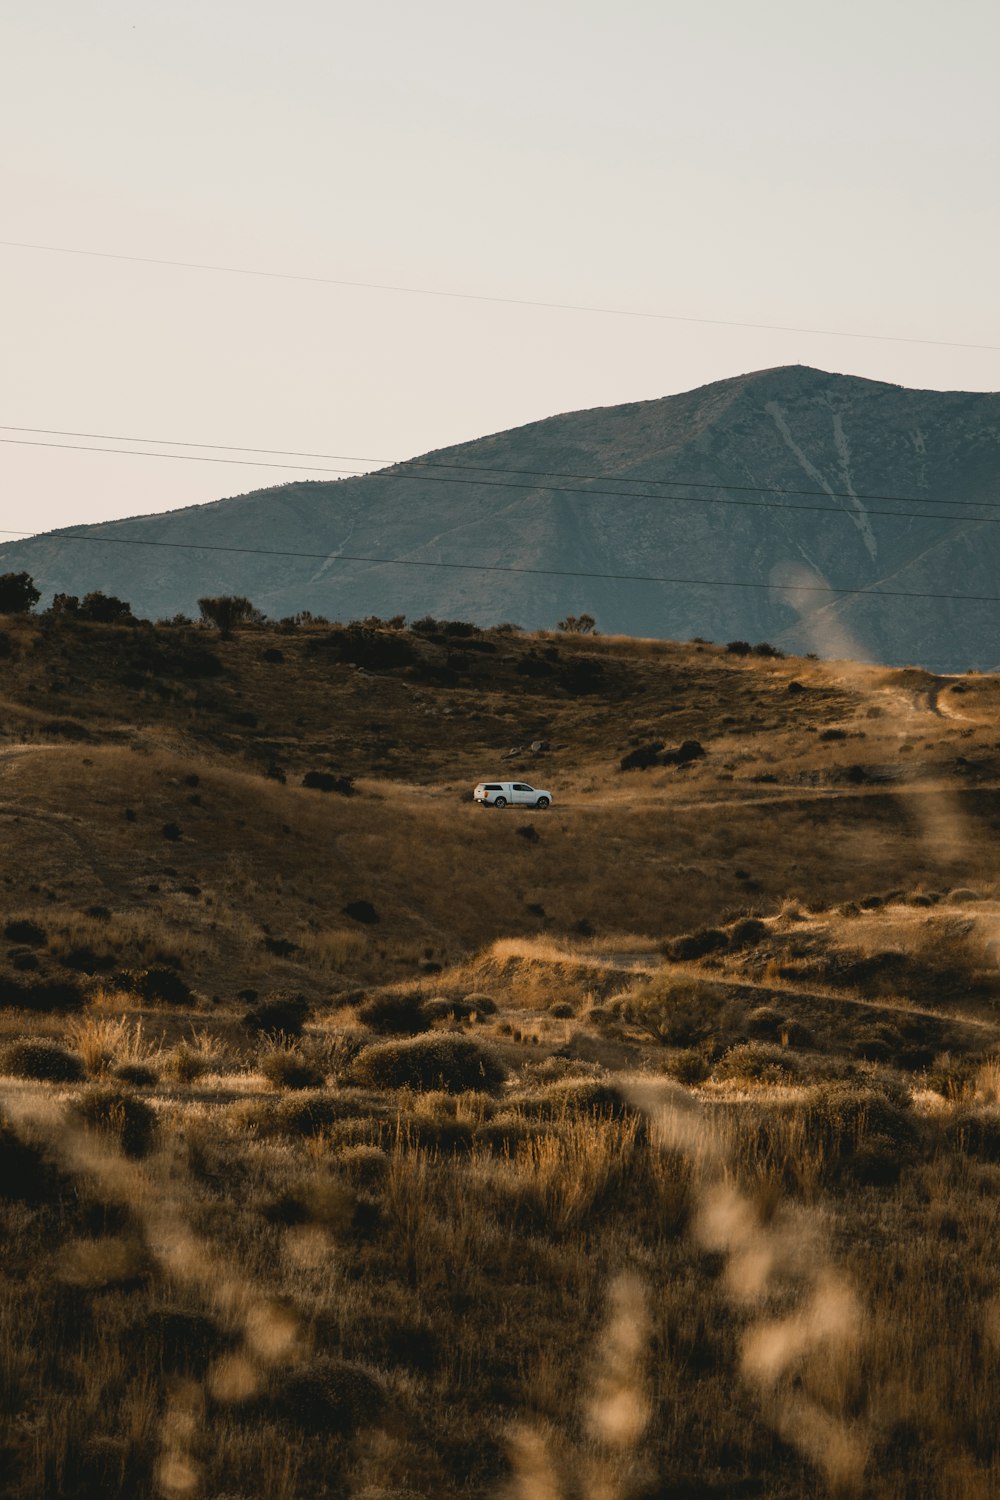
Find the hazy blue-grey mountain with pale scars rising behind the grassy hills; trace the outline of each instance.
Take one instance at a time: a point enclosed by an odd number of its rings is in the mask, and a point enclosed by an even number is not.
[[[48,532],[0,548],[0,572],[150,616],[223,592],[271,616],[543,627],[588,612],[604,632],[987,669],[1000,512],[982,506],[999,498],[1000,394],[784,366],[375,474],[73,528],[85,543]]]

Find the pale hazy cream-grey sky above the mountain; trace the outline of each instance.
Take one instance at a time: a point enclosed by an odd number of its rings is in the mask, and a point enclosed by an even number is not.
[[[996,0],[6,0],[0,238],[1000,346],[999,56]],[[997,350],[3,246],[0,285],[7,426],[397,459],[784,363],[1000,388]],[[306,477],[0,470],[24,530]]]

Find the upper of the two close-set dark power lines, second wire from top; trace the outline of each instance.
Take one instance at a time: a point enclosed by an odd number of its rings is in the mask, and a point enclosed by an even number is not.
[[[786,486],[786,484],[724,484],[724,483],[721,483],[718,480],[706,480],[706,478],[648,478],[648,477],[636,476],[636,474],[618,478],[618,476],[615,476],[615,474],[579,474],[574,470],[525,470],[525,468],[508,468],[504,464],[450,464],[450,462],[445,462],[445,460],[421,459],[421,458],[417,458],[417,459],[387,459],[387,458],[372,458],[370,454],[367,458],[361,458],[358,454],[351,454],[351,453],[309,453],[309,452],[301,452],[300,448],[253,448],[253,447],[249,447],[249,446],[244,446],[244,444],[237,444],[237,442],[190,442],[190,441],[186,441],[183,438],[136,438],[133,434],[123,434],[123,432],[73,432],[73,430],[67,430],[67,429],[63,429],[63,428],[16,428],[16,426],[12,426],[10,423],[1,423],[1,422],[0,422],[0,432],[31,432],[31,434],[36,434],[36,435],[54,436],[54,438],[93,438],[93,440],[100,440],[100,441],[106,441],[106,442],[150,442],[150,444],[159,444],[160,447],[211,448],[213,452],[225,452],[225,453],[267,453],[267,454],[270,454],[273,458],[283,456],[283,458],[297,458],[297,459],[339,459],[339,460],[342,460],[345,464],[382,464],[382,465],[388,466],[388,468],[403,468],[403,466],[405,468],[444,468],[444,470],[454,470],[454,471],[457,471],[460,474],[523,474],[523,476],[526,476],[529,478],[579,478],[579,480],[588,480],[588,482],[589,480],[597,480],[600,483],[612,483],[612,484],[670,484],[672,488],[676,488],[678,484],[682,484],[685,489],[724,489],[724,490],[727,490],[730,494],[748,494],[748,495],[804,495],[804,496],[813,496],[816,500],[877,500],[877,501],[886,501],[886,502],[900,504],[900,506],[976,506],[976,507],[985,507],[985,508],[991,508],[991,510],[1000,508],[1000,506],[997,504],[997,501],[991,501],[991,500],[939,500],[939,498],[934,498],[933,495],[882,495],[882,494],[858,492],[858,490],[849,490],[849,489],[796,489],[795,486]],[[15,441],[16,441],[15,438],[0,438],[0,442],[15,442]],[[31,447],[33,444],[27,444],[25,442],[25,446]],[[39,444],[34,444],[34,446],[36,447],[49,447],[51,446],[51,447],[67,447],[67,448],[73,447],[73,444],[70,444],[70,442],[66,442],[66,444],[57,444],[57,442],[54,442],[54,444],[43,444],[43,442],[39,442]],[[123,452],[127,452],[127,450],[124,450],[124,448],[81,448],[79,452],[82,452],[82,453],[88,453],[88,452],[93,452],[93,453],[123,453]],[[153,453],[153,454],[133,454],[133,456],[138,456],[138,458],[144,458],[144,456],[148,456],[148,458],[196,458],[196,454],[190,454],[189,456],[189,454],[181,454],[181,453],[178,453],[178,454],[174,454],[174,453]],[[220,462],[220,460],[216,460],[216,462]],[[252,459],[229,459],[228,462],[231,462],[231,464],[246,464],[247,466],[250,466],[253,464]],[[300,465],[297,465],[297,464],[271,464],[271,465],[261,464],[258,466],[259,468],[288,468],[288,470],[297,470],[297,468],[300,468]],[[322,472],[322,474],[325,474],[325,472],[330,472],[330,474],[351,474],[352,472],[351,470],[316,470],[312,465],[307,465],[307,470],[309,470],[309,472]],[[357,477],[358,478],[372,477],[372,476],[373,476],[372,470],[358,470],[357,471]],[[376,477],[379,477],[379,478],[406,478],[408,476],[405,476],[405,474],[403,476],[384,474],[384,472],[378,471]],[[433,477],[435,476],[430,476],[430,474],[421,476],[421,478],[426,478],[426,480],[433,480]],[[477,483],[477,482],[472,482],[472,483]],[[547,489],[547,486],[544,486],[544,484],[543,486],[525,486],[525,488]],[[586,492],[582,492],[582,494],[595,494],[595,492],[594,490],[586,490]],[[613,494],[616,494],[616,492],[613,492]],[[654,496],[648,496],[648,498],[654,498]],[[666,496],[666,498],[672,498],[672,496]],[[673,496],[673,498],[684,498],[684,496]],[[784,507],[784,508],[790,508],[790,507]],[[885,514],[903,514],[903,512],[886,512]],[[931,519],[937,519],[937,518],[931,518]]]

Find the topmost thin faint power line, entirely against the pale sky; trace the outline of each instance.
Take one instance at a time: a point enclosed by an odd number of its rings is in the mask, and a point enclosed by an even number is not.
[[[123,255],[114,250],[82,250],[69,244],[33,244],[27,240],[0,240],[16,250],[45,250],[49,255],[81,255],[90,260],[127,261],[133,266],[169,266],[190,272],[217,272],[226,276],[258,276],[267,280],[307,282],[319,286],[352,286],[360,291],[388,291],[409,297],[447,297],[453,302],[486,302],[505,308],[544,308],[555,312],[588,312],[609,318],[649,318],[658,322],[688,322],[715,328],[751,328],[760,333],[807,333],[825,339],[865,339],[874,344],[919,344],[942,350],[981,350],[1000,352],[997,344],[963,344],[957,339],[915,339],[894,333],[856,333],[847,328],[805,328],[783,322],[745,322],[738,318],[694,318],[678,312],[646,312],[634,308],[598,308],[588,303],[543,302],[537,297],[498,297],[475,291],[442,291],[435,286],[402,286],[390,282],[348,280],[342,276],[304,276],[297,272],[262,272],[246,266],[217,266],[207,261],[174,261],[154,255]]]

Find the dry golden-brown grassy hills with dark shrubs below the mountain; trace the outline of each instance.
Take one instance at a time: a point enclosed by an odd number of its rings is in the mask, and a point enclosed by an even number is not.
[[[0,626],[0,1496],[1000,1494],[997,680]]]

